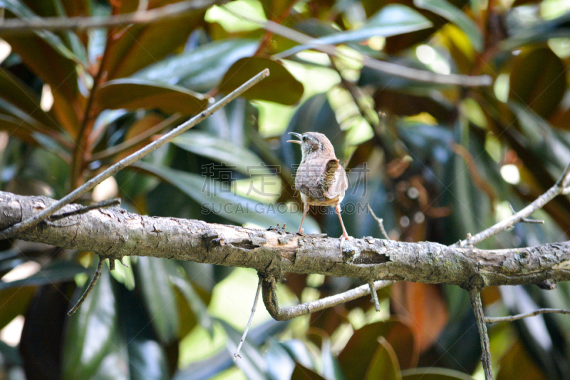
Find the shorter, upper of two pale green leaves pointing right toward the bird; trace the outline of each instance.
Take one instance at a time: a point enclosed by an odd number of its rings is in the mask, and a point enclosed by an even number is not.
[[[263,160],[251,150],[243,148],[233,141],[218,138],[201,130],[189,130],[182,133],[182,135],[174,138],[172,143],[194,154],[235,168],[240,173],[251,174],[249,173],[251,167],[256,168],[256,173],[270,173],[269,169],[259,169]]]

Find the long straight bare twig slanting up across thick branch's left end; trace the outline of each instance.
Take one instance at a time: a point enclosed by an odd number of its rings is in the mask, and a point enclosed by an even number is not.
[[[103,173],[100,173],[99,175],[96,175],[94,178],[91,178],[90,180],[88,180],[88,182],[86,182],[85,184],[83,184],[82,186],[77,188],[76,190],[73,190],[68,195],[61,198],[61,200],[54,203],[50,207],[46,208],[46,210],[43,210],[42,212],[39,212],[36,215],[33,215],[33,217],[29,217],[28,219],[24,220],[23,222],[16,223],[16,225],[12,225],[11,227],[8,227],[5,230],[0,231],[0,240],[12,237],[12,236],[16,235],[17,233],[26,230],[26,228],[37,225],[42,220],[46,219],[46,217],[50,217],[51,215],[53,215],[53,213],[56,212],[57,210],[61,209],[61,207],[68,205],[69,203],[76,200],[78,197],[81,197],[81,195],[83,195],[86,192],[88,192],[89,190],[95,188],[96,185],[102,183],[104,180],[106,180],[110,176],[114,175],[115,173],[118,173],[119,170],[122,170],[123,168],[126,168],[128,165],[131,165],[132,163],[134,163],[135,161],[140,160],[141,158],[145,157],[145,155],[147,155],[148,153],[151,153],[153,150],[160,148],[162,145],[164,145],[168,141],[177,137],[181,133],[184,133],[186,130],[189,130],[194,125],[197,125],[198,123],[200,123],[202,120],[208,118],[209,115],[212,115],[212,113],[218,111],[220,108],[225,106],[227,103],[233,101],[235,98],[240,96],[242,93],[247,91],[249,88],[252,88],[252,86],[254,86],[256,83],[259,83],[259,81],[263,80],[267,76],[269,76],[269,69],[266,68],[264,71],[261,71],[256,76],[249,79],[249,81],[242,84],[242,86],[239,86],[238,88],[236,88],[234,91],[232,91],[232,93],[229,93],[229,95],[222,98],[222,100],[220,100],[217,103],[214,103],[212,106],[207,108],[207,110],[202,111],[201,113],[194,116],[190,120],[187,120],[185,123],[182,123],[177,128],[171,130],[166,135],[163,135],[161,138],[159,138],[155,142],[150,143],[150,144],[146,145],[144,148],[137,150],[135,153],[128,155],[128,157],[123,158],[123,160],[120,160],[118,163],[115,163],[115,165],[113,165],[110,168],[108,168],[107,170],[103,171]]]

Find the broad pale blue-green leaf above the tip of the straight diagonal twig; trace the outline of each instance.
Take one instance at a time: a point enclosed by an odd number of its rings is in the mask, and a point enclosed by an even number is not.
[[[178,84],[206,93],[218,86],[235,61],[252,56],[257,46],[258,41],[251,39],[215,41],[155,63],[137,73],[135,78]]]

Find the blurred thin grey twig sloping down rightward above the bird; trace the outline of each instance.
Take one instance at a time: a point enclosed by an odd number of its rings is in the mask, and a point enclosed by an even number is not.
[[[378,59],[374,59],[368,56],[346,56],[346,53],[338,51],[338,48],[334,45],[329,45],[326,43],[322,43],[318,41],[316,38],[312,38],[307,36],[306,34],[302,34],[299,31],[294,29],[287,28],[284,25],[277,24],[274,21],[262,21],[259,19],[252,19],[251,17],[241,14],[234,9],[230,9],[228,7],[224,7],[226,11],[229,13],[234,14],[244,20],[252,21],[255,24],[260,25],[266,31],[271,31],[274,34],[279,36],[285,37],[291,41],[295,41],[297,43],[301,43],[303,45],[308,46],[308,48],[313,48],[318,51],[322,51],[323,53],[327,53],[331,56],[343,56],[344,58],[354,59],[359,63],[367,66],[369,68],[373,68],[378,71],[382,71],[383,73],[388,73],[393,76],[398,76],[400,78],[408,78],[412,81],[418,82],[427,82],[427,83],[440,83],[440,84],[450,84],[456,86],[466,86],[466,87],[478,87],[478,86],[490,86],[492,84],[492,78],[487,75],[483,76],[465,76],[460,74],[440,74],[434,73],[432,71],[423,71],[417,70],[415,68],[410,68],[407,66],[401,66],[396,63],[386,62],[386,61],[378,61]],[[285,58],[282,55],[276,55],[274,58]]]

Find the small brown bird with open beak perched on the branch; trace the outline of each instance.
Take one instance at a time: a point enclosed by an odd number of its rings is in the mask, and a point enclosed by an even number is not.
[[[341,201],[348,188],[348,178],[343,166],[334,154],[334,148],[326,135],[317,132],[294,133],[299,140],[288,140],[287,143],[301,145],[301,164],[295,176],[295,189],[301,192],[304,204],[303,218],[297,233],[303,233],[303,221],[309,211],[309,205],[333,206],[338,219],[341,220],[343,235],[341,236],[341,252],[343,241],[350,237],[344,228],[341,217]]]

